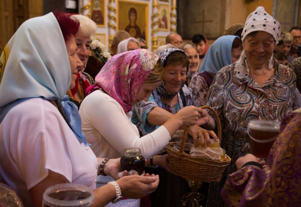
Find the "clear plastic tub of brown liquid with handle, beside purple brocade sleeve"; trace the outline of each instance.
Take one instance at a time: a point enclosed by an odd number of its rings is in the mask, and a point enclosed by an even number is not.
[[[256,157],[268,158],[274,141],[279,135],[280,122],[252,120],[248,124],[250,153]]]

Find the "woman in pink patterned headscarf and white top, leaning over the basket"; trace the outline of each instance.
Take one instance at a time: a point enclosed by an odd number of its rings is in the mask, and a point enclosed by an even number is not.
[[[117,158],[123,155],[125,148],[139,147],[148,160],[147,165],[162,165],[168,169],[167,155],[154,155],[165,147],[179,127],[194,125],[200,109],[185,107],[157,130],[140,137],[131,122],[132,106],[147,101],[162,79],[160,57],[146,49],[120,53],[107,61],[95,77],[96,85],[87,88],[89,94],[79,110],[82,130],[96,156]],[[98,186],[113,179],[108,177],[98,176]]]

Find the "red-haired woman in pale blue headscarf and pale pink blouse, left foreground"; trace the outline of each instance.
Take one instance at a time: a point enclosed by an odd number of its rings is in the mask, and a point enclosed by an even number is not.
[[[158,176],[132,175],[95,189],[97,175],[117,179],[122,170],[120,159],[95,156],[66,94],[83,67],[76,55],[78,28],[67,13],[31,18],[0,58],[0,177],[24,206],[42,206],[43,193],[54,184],[85,185],[94,190],[91,206],[104,206],[120,195],[144,197],[159,183]]]

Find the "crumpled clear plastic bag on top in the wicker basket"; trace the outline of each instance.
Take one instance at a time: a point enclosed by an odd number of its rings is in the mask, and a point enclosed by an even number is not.
[[[194,145],[191,147],[190,154],[192,157],[205,157],[213,160],[221,160],[221,156],[224,155],[221,147],[207,147],[202,148],[201,146],[195,148]]]

